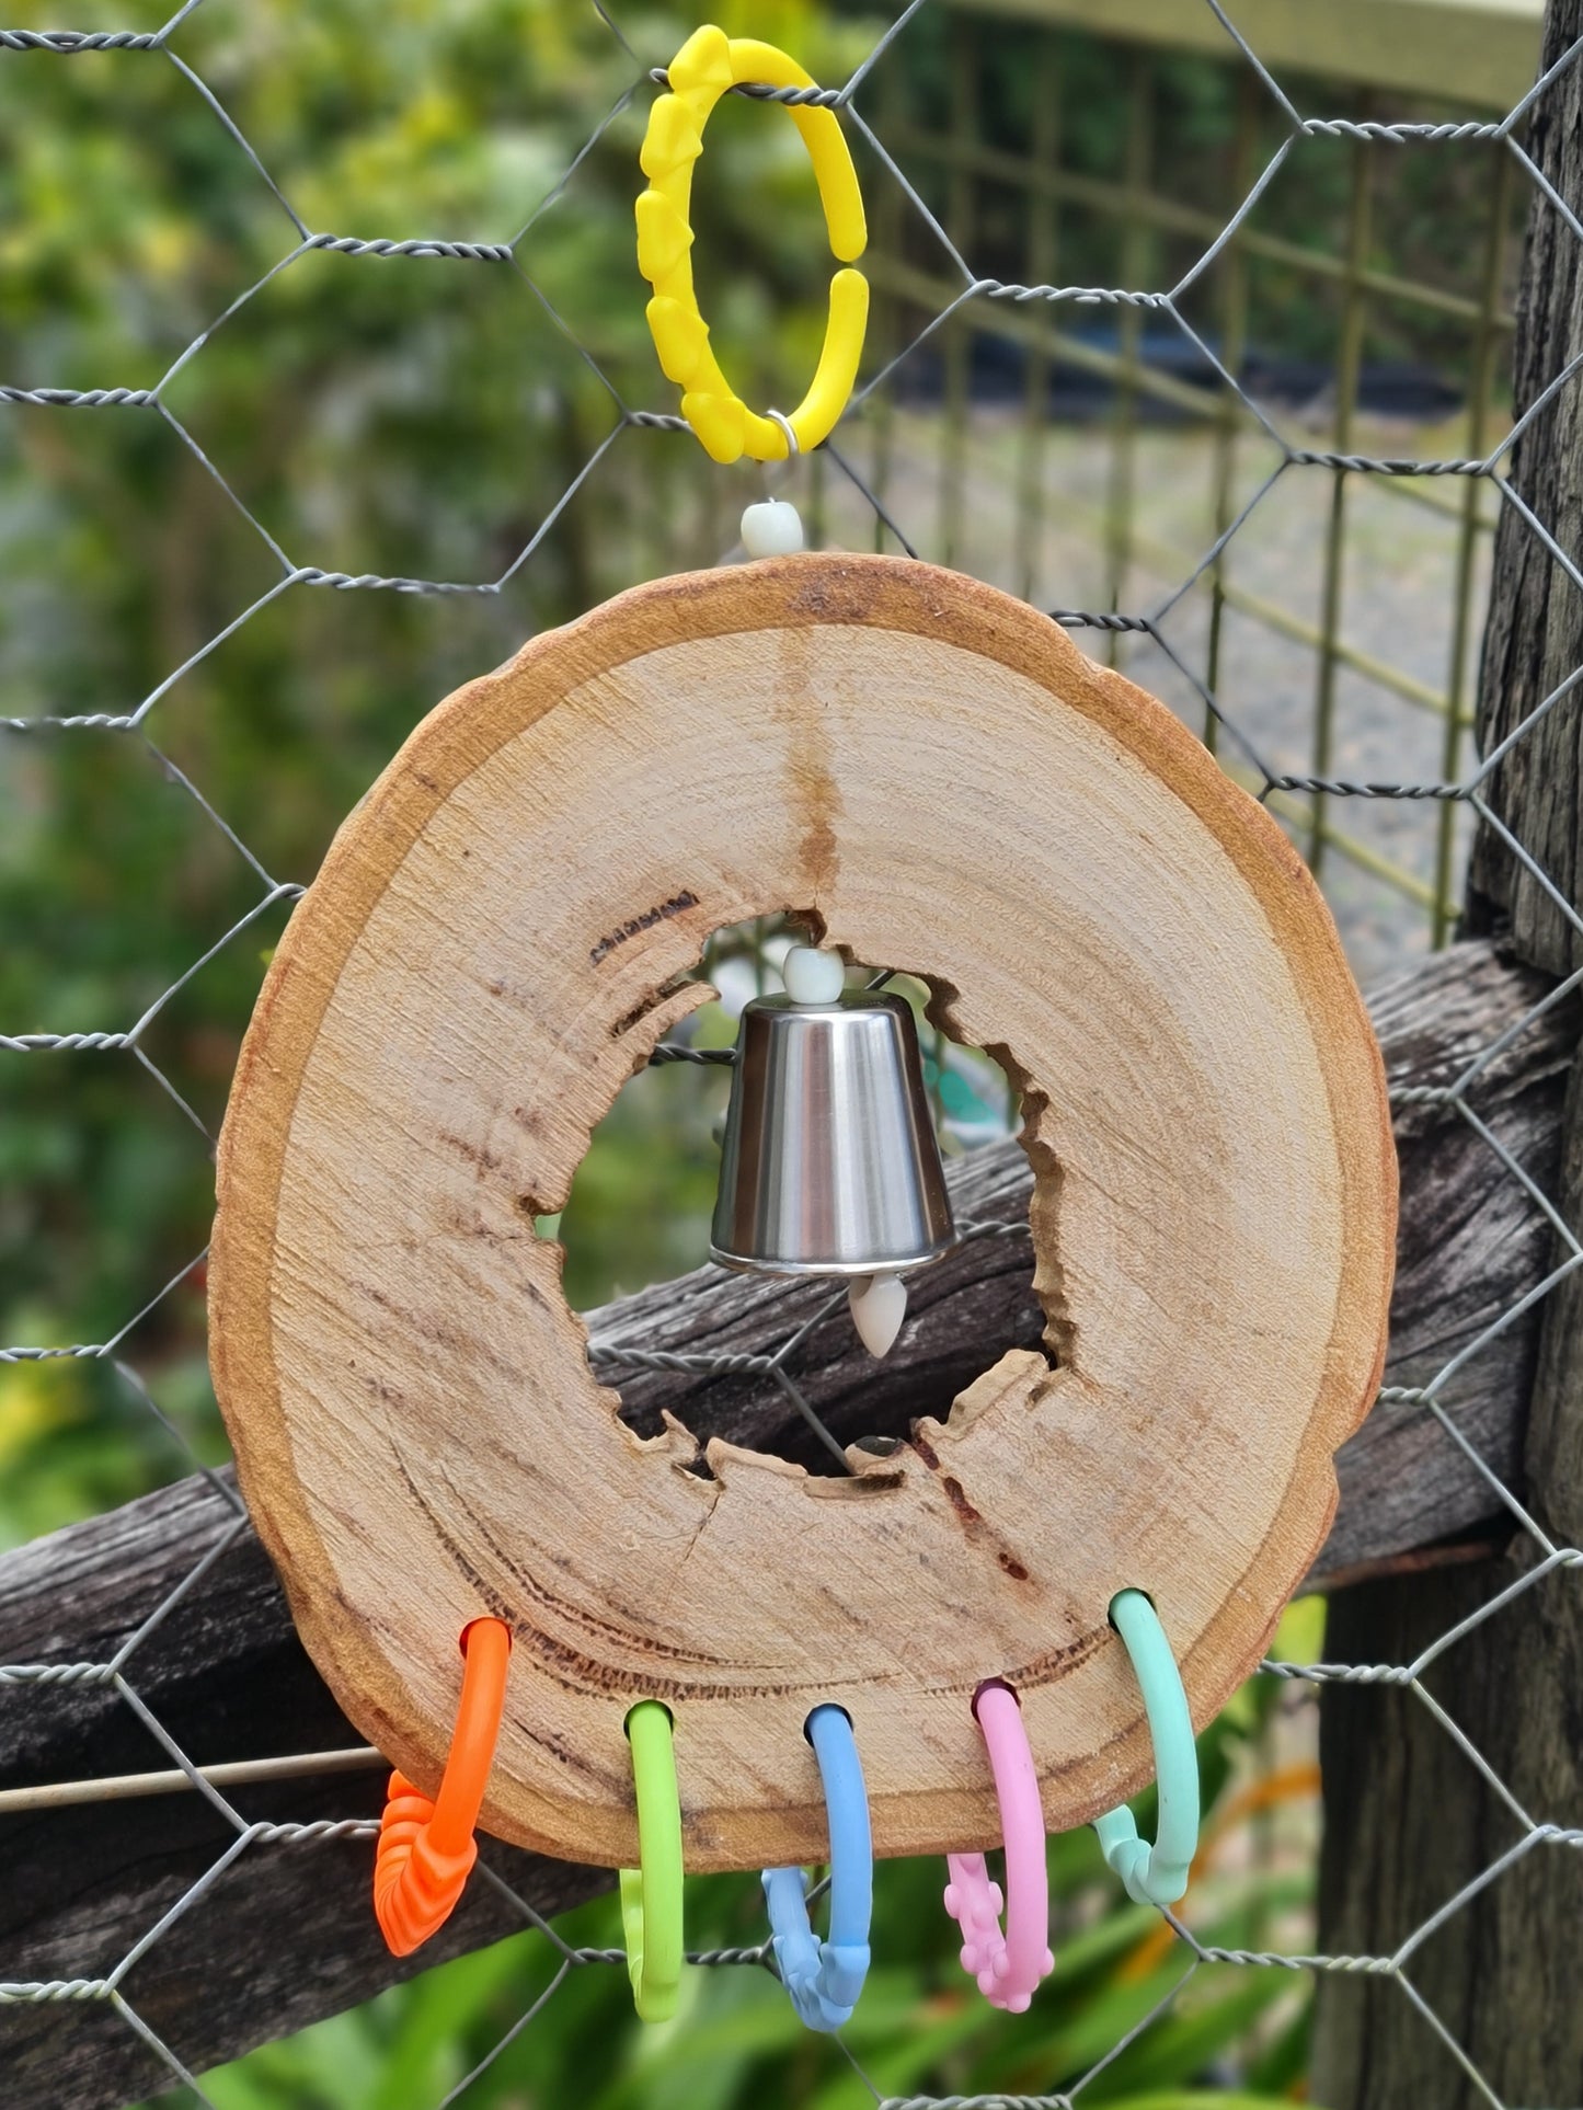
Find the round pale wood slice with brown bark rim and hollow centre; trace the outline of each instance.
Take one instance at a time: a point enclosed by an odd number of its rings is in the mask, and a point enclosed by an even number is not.
[[[534,1232],[709,933],[781,909],[933,985],[1036,1169],[1051,1357],[851,1479],[637,1439]],[[1148,1781],[1119,1589],[1197,1724],[1256,1665],[1378,1382],[1393,1232],[1378,1051],[1262,808],[1024,603],[802,555],[534,639],[346,821],[236,1074],[213,1369],[302,1637],[422,1787],[462,1627],[511,1623],[492,1831],[633,1861],[623,1718],[659,1696],[688,1865],[817,1859],[836,1701],[876,1850],[973,1848],[984,1677],[1051,1829]]]

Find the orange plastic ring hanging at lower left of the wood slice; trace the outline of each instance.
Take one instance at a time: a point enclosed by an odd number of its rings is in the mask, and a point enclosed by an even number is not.
[[[393,1956],[409,1956],[439,1933],[473,1874],[473,1827],[494,1766],[509,1663],[504,1620],[475,1618],[462,1631],[462,1699],[439,1796],[431,1802],[405,1775],[390,1775],[374,1855],[374,1916]]]

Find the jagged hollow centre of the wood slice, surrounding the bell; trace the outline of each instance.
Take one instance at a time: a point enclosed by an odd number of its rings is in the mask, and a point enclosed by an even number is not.
[[[1032,1285],[1028,1173],[1017,1167],[1007,1177],[1000,1152],[994,1177],[986,1177],[990,1158],[975,1167],[981,1144],[1017,1131],[1019,1085],[994,1055],[950,1032],[927,981],[886,962],[848,962],[846,990],[884,990],[916,1013],[958,1245],[905,1270],[908,1317],[884,1357],[863,1348],[840,1281],[741,1274],[709,1262],[732,1078],[724,1057],[743,1006],[783,990],[781,960],[806,939],[806,928],[781,918],[713,933],[690,977],[713,998],[621,1089],[566,1209],[538,1220],[540,1234],[564,1247],[566,1291],[589,1327],[593,1374],[618,1393],[623,1422],[656,1437],[665,1416],[680,1420],[699,1443],[690,1471],[705,1479],[703,1452],[716,1437],[838,1477],[853,1471],[851,1450],[884,1458],[914,1422],[948,1420],[984,1367],[977,1319],[986,1302],[998,1321],[992,1338],[1055,1363]],[[631,1298],[640,1281],[648,1287]],[[599,1306],[616,1296],[623,1310],[612,1325]],[[962,1310],[969,1296],[973,1325]],[[779,1376],[726,1367],[735,1357],[777,1357],[794,1338]],[[688,1367],[661,1361],[669,1357],[686,1357]]]

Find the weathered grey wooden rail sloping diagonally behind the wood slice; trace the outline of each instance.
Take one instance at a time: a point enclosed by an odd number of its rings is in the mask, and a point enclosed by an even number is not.
[[[1551,987],[1492,945],[1439,954],[1374,994],[1397,1095],[1446,1087]],[[1480,1078],[1477,1106],[1541,1188],[1558,1169],[1566,1068],[1579,1011],[1537,1019]],[[1397,1114],[1399,1277],[1387,1384],[1425,1384],[1541,1279],[1549,1226],[1452,1106]],[[965,1220],[1026,1211],[1028,1167],[1009,1144],[954,1167]],[[1026,1236],[975,1239],[914,1291],[914,1319],[876,1365],[844,1315],[815,1327],[798,1382],[842,1441],[905,1437],[1009,1344],[1036,1346]],[[819,1291],[699,1272],[591,1315],[606,1350],[764,1355]],[[1488,1464],[1520,1483],[1537,1315],[1456,1376],[1448,1407]],[[663,1409],[722,1435],[815,1462],[785,1393],[764,1376],[623,1374],[623,1409],[652,1431]],[[1258,1412],[1258,1401],[1247,1401]],[[806,1450],[800,1452],[800,1445]],[[1488,1553],[1507,1536],[1488,1481],[1414,1401],[1382,1401],[1338,1464],[1340,1509],[1315,1585]],[[179,1587],[186,1591],[175,1597]],[[258,1540],[226,1494],[188,1479],[0,1561],[0,1663],[101,1665],[150,1620],[127,1663],[141,1703],[198,1764],[357,1743],[291,1629]],[[133,1705],[93,1680],[0,1684],[0,1789],[171,1764]],[[378,1775],[329,1775],[230,1789],[247,1821],[369,1817]],[[232,1840],[203,1796],[97,1802],[0,1815],[0,1981],[97,1979],[186,1895]],[[608,1874],[485,1846],[485,1861],[536,1912],[595,1895]],[[249,2045],[367,1998],[445,1956],[523,1924],[488,1882],[418,1958],[395,1962],[369,1910],[363,1840],[255,1842],[127,1973],[137,2013],[196,2072]],[[2,1998],[2,1996],[0,1996]],[[110,2110],[169,2085],[169,2070],[103,1998],[0,2004],[0,2099],[8,2110]]]

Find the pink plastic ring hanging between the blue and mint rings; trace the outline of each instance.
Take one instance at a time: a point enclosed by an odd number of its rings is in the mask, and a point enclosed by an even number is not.
[[[962,1969],[992,2007],[1022,2015],[1043,1977],[1055,1969],[1049,1952],[1049,1867],[1045,1812],[1022,1707],[1011,1686],[994,1680],[973,1694],[973,1713],[990,1747],[1000,1836],[1007,1846],[1007,1897],[990,1882],[981,1853],[946,1857],[946,1912],[962,1929]],[[1000,1905],[1007,1931],[1000,1933]]]

